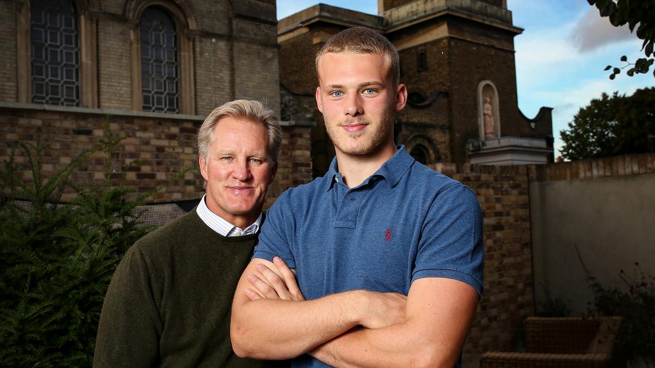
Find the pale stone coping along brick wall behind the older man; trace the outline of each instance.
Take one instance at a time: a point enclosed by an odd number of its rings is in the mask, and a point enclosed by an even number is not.
[[[184,121],[204,121],[204,115],[149,113],[146,111],[128,111],[119,109],[93,109],[79,106],[58,106],[39,103],[0,102],[0,109],[16,109],[31,111],[52,111],[56,113],[79,113],[89,115],[112,115],[116,117],[139,117],[151,119],[168,119]],[[280,126],[316,126],[316,122],[305,120],[280,120]]]

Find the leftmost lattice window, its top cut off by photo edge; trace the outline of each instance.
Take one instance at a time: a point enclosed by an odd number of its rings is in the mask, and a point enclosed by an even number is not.
[[[30,3],[31,102],[79,106],[79,22],[71,0]]]

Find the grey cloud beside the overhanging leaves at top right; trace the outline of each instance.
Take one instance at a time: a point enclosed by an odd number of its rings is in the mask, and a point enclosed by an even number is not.
[[[581,52],[635,38],[637,36],[631,34],[627,26],[612,26],[609,18],[603,18],[598,14],[596,7],[589,7],[569,35],[569,41]]]

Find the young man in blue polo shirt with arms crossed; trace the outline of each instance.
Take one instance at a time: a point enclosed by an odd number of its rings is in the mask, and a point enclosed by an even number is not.
[[[234,295],[234,351],[298,356],[295,367],[453,367],[482,292],[477,198],[394,145],[407,89],[383,36],[346,29],[316,67],[337,155],[269,211]]]

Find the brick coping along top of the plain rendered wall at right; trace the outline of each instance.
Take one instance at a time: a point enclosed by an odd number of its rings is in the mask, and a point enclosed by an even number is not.
[[[655,153],[529,165],[529,180],[561,181],[655,173]]]

